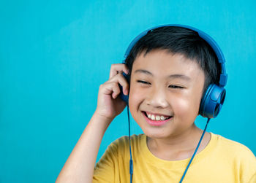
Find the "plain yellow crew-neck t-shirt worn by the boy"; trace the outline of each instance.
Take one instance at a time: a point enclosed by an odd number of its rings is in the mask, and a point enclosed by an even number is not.
[[[148,149],[146,135],[131,136],[133,183],[179,182],[190,158],[168,161]],[[129,137],[122,136],[108,146],[94,168],[96,182],[129,183]],[[236,141],[211,133],[206,148],[197,152],[183,183],[256,183],[256,157]]]

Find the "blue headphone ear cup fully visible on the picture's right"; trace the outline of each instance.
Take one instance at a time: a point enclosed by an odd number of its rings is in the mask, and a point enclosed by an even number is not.
[[[208,118],[217,117],[220,109],[222,109],[225,96],[226,90],[224,87],[215,84],[209,85],[200,102],[199,114]]]

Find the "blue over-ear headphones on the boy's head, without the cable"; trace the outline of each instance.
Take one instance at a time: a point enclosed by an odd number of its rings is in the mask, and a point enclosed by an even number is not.
[[[132,50],[132,47],[138,42],[138,40],[140,40],[140,38],[145,36],[148,33],[148,31],[152,31],[155,28],[164,27],[164,26],[177,26],[181,28],[188,28],[192,31],[197,32],[197,34],[202,39],[204,39],[206,42],[208,42],[208,44],[210,44],[215,54],[217,55],[218,61],[221,64],[221,68],[222,68],[222,72],[219,77],[219,84],[218,85],[211,84],[208,86],[206,92],[203,94],[203,97],[200,101],[200,109],[199,109],[199,114],[202,115],[203,117],[208,117],[208,118],[217,117],[225,101],[226,90],[224,87],[227,83],[227,73],[225,70],[225,58],[222,53],[222,50],[220,50],[217,42],[215,42],[214,39],[211,38],[211,36],[208,36],[208,34],[198,30],[197,28],[193,28],[191,26],[184,26],[180,24],[166,24],[161,26],[155,26],[153,28],[147,29],[146,31],[143,31],[141,34],[136,36],[135,39],[132,40],[132,42],[129,44],[129,47],[127,48],[124,54],[124,61],[129,55],[129,52]],[[128,79],[127,75],[124,74],[124,72],[123,72],[123,75]],[[125,96],[124,93],[122,92],[121,92],[121,99],[128,104],[128,96]]]

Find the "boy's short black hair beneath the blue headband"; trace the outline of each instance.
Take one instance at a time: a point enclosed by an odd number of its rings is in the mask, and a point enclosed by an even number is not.
[[[190,61],[195,61],[205,74],[203,93],[206,92],[208,85],[218,85],[222,70],[212,47],[197,32],[178,26],[155,28],[140,38],[125,59],[129,69],[128,76],[132,73],[132,65],[138,55],[144,52],[145,56],[148,52],[158,49],[167,50],[173,55],[179,53]]]

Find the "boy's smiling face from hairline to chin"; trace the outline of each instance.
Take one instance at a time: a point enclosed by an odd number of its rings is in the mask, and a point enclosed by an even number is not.
[[[165,139],[191,130],[200,107],[205,79],[203,71],[183,55],[171,55],[166,50],[152,50],[146,57],[143,53],[132,66],[129,88],[132,117],[146,136],[154,139]],[[173,74],[184,77],[168,77]],[[158,121],[152,125],[143,112],[173,117],[163,124]]]

